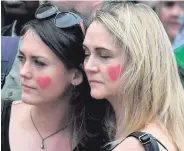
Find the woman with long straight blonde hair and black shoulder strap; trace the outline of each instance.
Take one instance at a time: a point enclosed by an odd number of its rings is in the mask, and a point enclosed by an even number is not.
[[[156,150],[183,151],[184,92],[156,13],[144,4],[105,2],[83,47],[91,95],[115,111],[113,151],[143,151],[147,142],[128,137],[136,131],[154,137]]]

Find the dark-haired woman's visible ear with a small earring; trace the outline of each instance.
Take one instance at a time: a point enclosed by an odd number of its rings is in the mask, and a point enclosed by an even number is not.
[[[79,70],[75,69],[74,73],[73,73],[73,77],[72,77],[71,83],[73,85],[77,86],[77,85],[81,84],[82,81],[83,81],[82,73]]]

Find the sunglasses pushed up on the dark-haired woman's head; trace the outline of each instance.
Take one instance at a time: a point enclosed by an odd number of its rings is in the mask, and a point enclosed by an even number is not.
[[[35,13],[37,19],[45,19],[54,17],[54,24],[58,28],[70,28],[73,26],[80,26],[84,34],[84,24],[82,18],[73,12],[60,12],[57,6],[45,3],[42,4]]]

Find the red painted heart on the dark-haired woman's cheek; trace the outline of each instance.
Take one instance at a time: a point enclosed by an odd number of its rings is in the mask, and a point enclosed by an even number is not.
[[[37,84],[41,89],[46,89],[52,82],[52,79],[49,76],[39,76],[36,79]]]

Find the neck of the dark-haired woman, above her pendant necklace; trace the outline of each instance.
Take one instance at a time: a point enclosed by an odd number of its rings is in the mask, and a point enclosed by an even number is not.
[[[46,137],[70,122],[69,100],[32,106],[30,114],[42,137]]]

